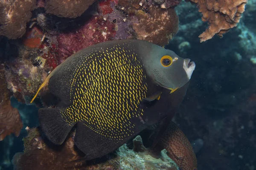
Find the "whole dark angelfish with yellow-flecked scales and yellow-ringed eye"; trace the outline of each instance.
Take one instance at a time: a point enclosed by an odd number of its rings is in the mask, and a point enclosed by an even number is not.
[[[84,159],[104,156],[166,117],[172,101],[164,96],[185,85],[194,69],[190,59],[143,40],[84,48],[38,89],[48,82],[61,100],[56,108],[39,109],[41,128],[51,142],[62,144],[76,125],[74,140]]]

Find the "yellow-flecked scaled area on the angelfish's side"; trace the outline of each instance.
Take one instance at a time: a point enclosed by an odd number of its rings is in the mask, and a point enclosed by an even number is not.
[[[98,48],[79,62],[71,83],[72,104],[61,110],[69,125],[86,121],[91,130],[113,139],[134,134],[131,119],[143,115],[140,102],[147,84],[142,62],[127,47]]]

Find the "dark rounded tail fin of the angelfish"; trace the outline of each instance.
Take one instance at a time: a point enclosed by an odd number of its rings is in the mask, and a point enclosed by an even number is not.
[[[38,118],[47,138],[54,144],[62,144],[73,125],[68,125],[61,117],[59,108],[41,108]]]

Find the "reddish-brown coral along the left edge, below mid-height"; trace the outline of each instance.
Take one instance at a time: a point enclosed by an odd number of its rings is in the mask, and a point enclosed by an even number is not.
[[[0,82],[0,141],[2,141],[11,133],[19,136],[23,125],[18,110],[11,105],[11,93],[7,89],[3,65],[0,65]]]

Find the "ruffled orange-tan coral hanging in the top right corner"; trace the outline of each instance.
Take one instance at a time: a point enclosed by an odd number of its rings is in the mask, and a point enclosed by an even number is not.
[[[187,0],[196,3],[199,12],[203,14],[202,20],[209,23],[209,27],[199,35],[200,42],[211,39],[215,34],[229,31],[239,23],[244,12],[247,0]]]

